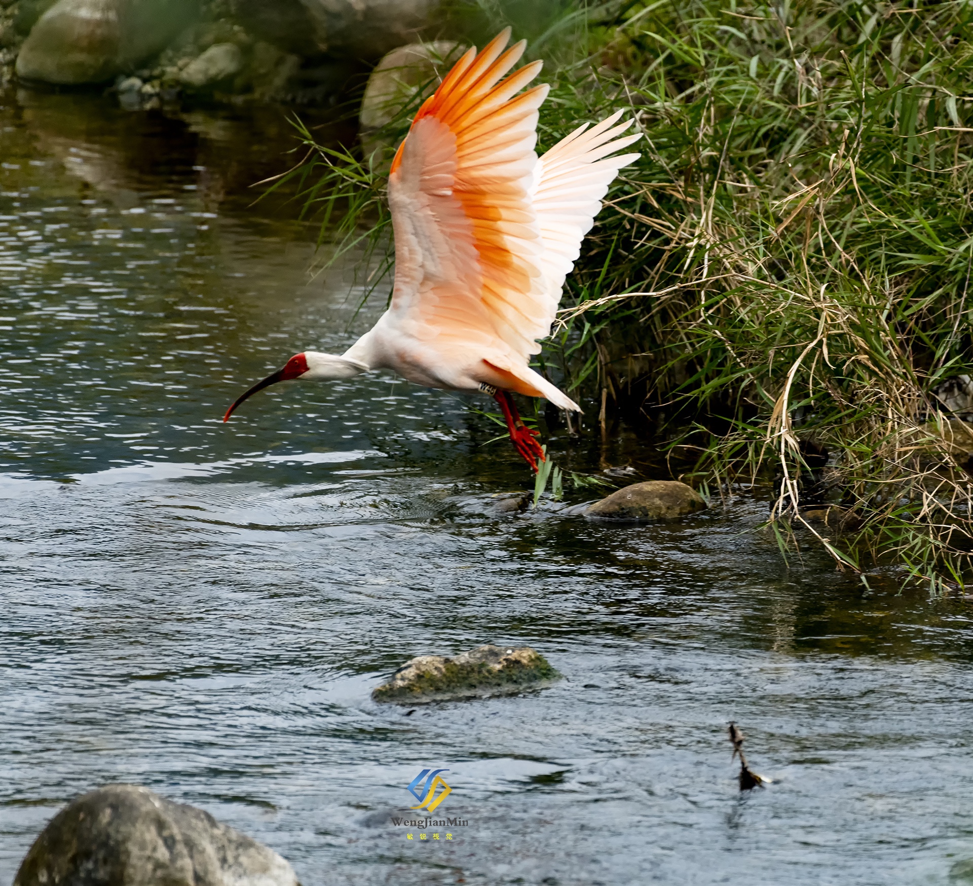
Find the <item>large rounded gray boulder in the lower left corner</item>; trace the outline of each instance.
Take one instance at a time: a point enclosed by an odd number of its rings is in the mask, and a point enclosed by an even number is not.
[[[134,785],[62,809],[30,847],[14,886],[298,886],[293,869],[209,813]]]

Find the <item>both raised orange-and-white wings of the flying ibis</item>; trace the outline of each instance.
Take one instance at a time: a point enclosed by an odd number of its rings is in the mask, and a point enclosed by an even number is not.
[[[417,338],[482,342],[526,365],[557,314],[608,185],[637,154],[609,157],[621,112],[582,127],[539,161],[537,109],[546,86],[520,92],[540,70],[507,29],[470,50],[415,115],[392,161],[395,232],[392,312]],[[586,131],[587,129],[587,131]]]

